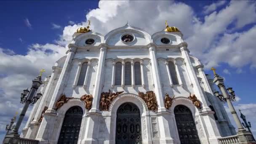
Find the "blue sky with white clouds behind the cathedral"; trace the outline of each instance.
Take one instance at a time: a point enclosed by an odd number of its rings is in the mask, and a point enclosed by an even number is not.
[[[256,133],[255,1],[1,1],[0,17],[0,140],[15,111],[21,111],[19,93],[40,68],[46,69],[44,76],[51,73],[72,34],[88,19],[103,35],[127,21],[151,35],[164,29],[165,20],[178,27],[205,73],[216,67],[233,87],[239,97],[235,108],[242,109]]]

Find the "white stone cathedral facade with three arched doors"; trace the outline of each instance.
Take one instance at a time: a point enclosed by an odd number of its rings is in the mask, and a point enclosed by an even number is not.
[[[45,78],[24,138],[40,144],[219,144],[235,135],[176,27],[77,29]]]

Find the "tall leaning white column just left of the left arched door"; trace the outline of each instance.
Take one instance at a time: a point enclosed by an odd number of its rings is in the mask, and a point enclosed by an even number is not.
[[[40,140],[40,144],[45,144],[48,143],[48,141],[53,141],[49,138],[51,138],[51,134],[49,133],[50,131],[53,131],[54,125],[56,123],[56,117],[57,117],[57,112],[54,109],[55,108],[55,102],[59,99],[59,96],[63,92],[64,89],[64,84],[67,79],[72,59],[75,56],[76,52],[76,45],[74,44],[69,44],[69,50],[67,51],[67,57],[64,63],[64,66],[62,68],[61,74],[59,76],[58,83],[56,84],[55,90],[53,92],[51,102],[49,104],[48,109],[44,113],[44,118],[43,121],[41,122],[40,128],[37,133],[37,140]]]

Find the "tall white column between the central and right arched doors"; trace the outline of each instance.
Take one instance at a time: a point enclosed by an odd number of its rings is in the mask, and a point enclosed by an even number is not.
[[[161,88],[160,82],[160,72],[158,69],[157,58],[156,58],[156,45],[150,44],[149,48],[149,56],[151,59],[151,67],[152,67],[152,77],[155,83],[155,96],[158,104],[157,111],[157,119],[158,125],[160,129],[160,144],[173,144],[174,140],[171,136],[171,125],[170,122],[171,116],[170,112],[164,106],[164,95]]]

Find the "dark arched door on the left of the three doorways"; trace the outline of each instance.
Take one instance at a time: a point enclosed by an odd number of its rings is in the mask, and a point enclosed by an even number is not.
[[[71,107],[67,110],[62,123],[58,144],[77,144],[82,116],[83,109],[79,106]]]

